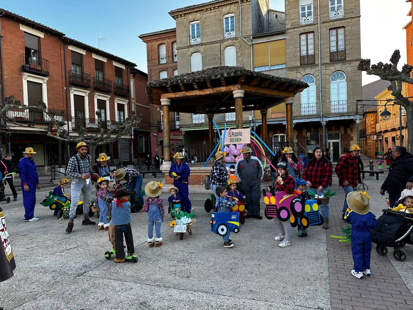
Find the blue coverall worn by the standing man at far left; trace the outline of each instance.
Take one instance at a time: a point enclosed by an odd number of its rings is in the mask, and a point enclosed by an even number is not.
[[[34,217],[34,207],[36,205],[36,188],[39,183],[39,176],[36,171],[36,163],[34,160],[30,160],[27,157],[23,157],[19,165],[20,186],[23,195],[24,205],[24,219],[32,219]],[[27,184],[28,191],[24,190],[24,184]]]

